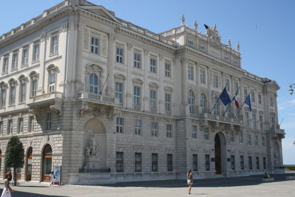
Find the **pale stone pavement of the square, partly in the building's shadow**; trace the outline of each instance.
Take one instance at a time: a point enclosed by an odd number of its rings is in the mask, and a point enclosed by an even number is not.
[[[191,195],[188,194],[186,180],[155,180],[122,182],[112,185],[61,185],[49,187],[49,183],[20,181],[12,197],[163,197],[163,196],[201,196],[201,197],[294,197],[295,180],[286,180],[286,176],[295,176],[295,171],[271,175],[275,182],[262,183],[263,175],[244,177],[222,177],[194,179]],[[4,184],[0,184],[3,188]],[[2,189],[0,190],[2,193]]]

